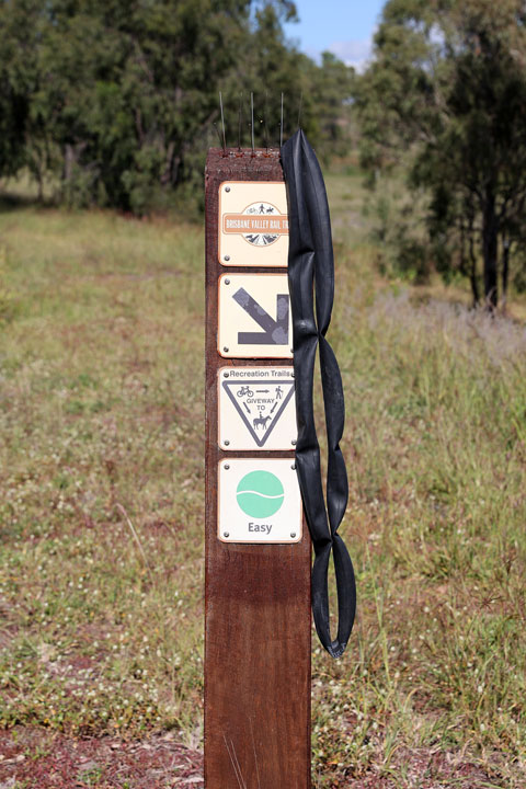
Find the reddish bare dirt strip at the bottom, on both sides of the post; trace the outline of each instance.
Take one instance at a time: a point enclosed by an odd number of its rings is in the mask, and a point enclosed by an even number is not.
[[[345,774],[345,770],[343,770]],[[395,754],[391,776],[370,770],[345,778],[331,789],[459,789],[499,787],[457,755],[432,748]],[[204,789],[203,755],[185,747],[172,733],[141,741],[117,737],[77,740],[38,728],[0,731],[0,789]],[[313,786],[317,786],[316,778]],[[233,789],[233,787],[232,787]],[[276,787],[285,789],[285,787]]]

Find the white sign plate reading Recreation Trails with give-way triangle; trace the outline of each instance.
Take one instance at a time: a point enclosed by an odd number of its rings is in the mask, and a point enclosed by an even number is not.
[[[217,382],[221,449],[294,449],[291,367],[222,367]]]

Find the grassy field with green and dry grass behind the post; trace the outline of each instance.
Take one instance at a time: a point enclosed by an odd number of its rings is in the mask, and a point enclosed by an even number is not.
[[[518,789],[525,329],[382,279],[358,179],[328,185],[359,601],[345,656],[315,648],[313,784]],[[199,226],[0,214],[0,724],[15,736],[201,744],[203,259]]]

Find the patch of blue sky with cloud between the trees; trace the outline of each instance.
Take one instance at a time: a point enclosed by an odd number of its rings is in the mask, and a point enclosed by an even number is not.
[[[362,70],[385,0],[296,0],[299,23],[285,33],[298,48],[317,58],[324,49]]]

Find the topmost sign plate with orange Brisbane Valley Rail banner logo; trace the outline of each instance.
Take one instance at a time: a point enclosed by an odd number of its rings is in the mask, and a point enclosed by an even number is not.
[[[226,181],[219,186],[219,262],[287,265],[287,193],[283,182]]]

